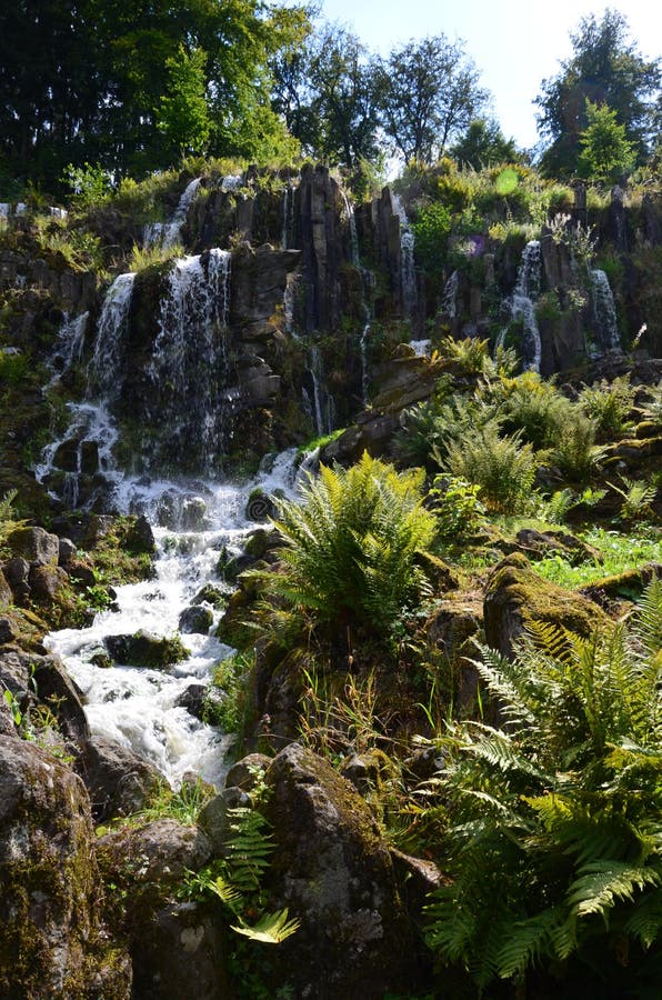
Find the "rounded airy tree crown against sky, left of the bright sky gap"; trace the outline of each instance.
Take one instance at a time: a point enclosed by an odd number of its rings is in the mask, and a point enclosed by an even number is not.
[[[382,127],[405,160],[431,163],[487,101],[463,43],[444,34],[394,49],[375,69]]]

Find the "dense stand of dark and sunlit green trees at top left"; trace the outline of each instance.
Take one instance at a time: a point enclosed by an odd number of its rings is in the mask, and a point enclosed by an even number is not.
[[[49,186],[68,163],[140,174],[170,166],[180,147],[204,149],[208,134],[210,152],[243,154],[251,116],[272,149],[285,130],[271,111],[268,63],[300,44],[308,23],[302,7],[262,0],[2,4],[7,169]]]

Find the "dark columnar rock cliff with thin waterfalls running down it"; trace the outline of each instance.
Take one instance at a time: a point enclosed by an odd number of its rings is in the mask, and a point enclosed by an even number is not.
[[[191,253],[110,288],[44,251],[29,217],[9,220],[0,486],[8,470],[29,473],[48,434],[59,447],[46,481],[71,500],[76,473],[80,503],[103,506],[110,461],[193,474],[251,466],[354,422],[399,378],[393,348],[410,339],[488,337],[545,376],[613,354],[644,327],[642,348],[659,352],[662,210],[649,196],[632,209],[614,189],[608,209],[589,212],[578,189],[572,212],[539,239],[477,234],[434,281],[392,190],[354,213],[321,166],[210,173],[171,201],[174,221],[142,239],[167,233]],[[107,217],[101,243],[127,247],[140,231]],[[100,403],[116,424],[110,443],[71,416]]]

